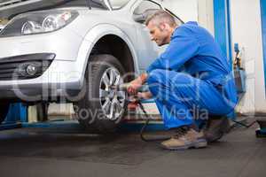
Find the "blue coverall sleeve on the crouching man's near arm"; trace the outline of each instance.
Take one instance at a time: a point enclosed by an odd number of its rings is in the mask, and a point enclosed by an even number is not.
[[[178,70],[186,61],[197,55],[199,47],[197,38],[188,29],[177,28],[168,48],[155,59],[146,72],[150,73],[154,69]]]

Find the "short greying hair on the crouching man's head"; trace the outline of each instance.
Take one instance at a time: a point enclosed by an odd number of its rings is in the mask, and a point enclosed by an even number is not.
[[[176,19],[166,11],[160,10],[155,13],[151,17],[145,20],[145,26],[148,26],[151,21],[154,21],[156,25],[160,25],[160,23],[167,23],[170,27],[176,27]]]

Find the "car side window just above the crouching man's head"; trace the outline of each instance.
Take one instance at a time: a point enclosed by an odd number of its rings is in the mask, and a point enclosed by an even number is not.
[[[141,2],[141,4],[139,4],[137,6],[137,8],[135,9],[135,11],[133,12],[134,15],[141,15],[145,12],[148,12],[148,11],[158,11],[160,10],[160,5],[159,4],[155,4],[151,1],[143,1]]]

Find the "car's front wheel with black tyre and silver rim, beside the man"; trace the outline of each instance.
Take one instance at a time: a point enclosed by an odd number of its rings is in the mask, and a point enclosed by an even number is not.
[[[90,58],[82,89],[84,98],[74,104],[82,127],[100,134],[115,132],[127,107],[126,93],[110,85],[121,84],[124,73],[121,63],[111,55]]]

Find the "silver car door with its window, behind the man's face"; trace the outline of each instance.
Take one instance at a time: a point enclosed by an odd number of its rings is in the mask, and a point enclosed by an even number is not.
[[[144,0],[133,7],[132,18],[135,20],[137,29],[137,63],[140,72],[145,71],[146,67],[159,56],[160,49],[155,42],[151,41],[149,30],[145,27],[145,19],[161,9],[160,4],[149,0]]]

